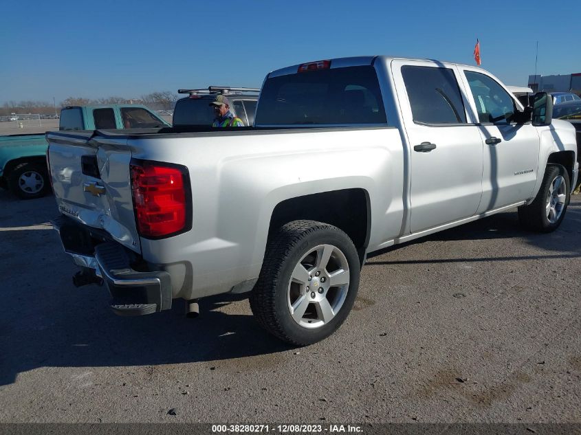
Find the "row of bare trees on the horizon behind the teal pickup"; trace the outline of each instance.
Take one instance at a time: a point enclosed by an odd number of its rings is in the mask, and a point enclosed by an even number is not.
[[[171,110],[179,96],[170,91],[152,92],[140,98],[108,97],[108,98],[83,98],[69,97],[56,106],[56,113],[61,112],[62,107],[67,106],[93,106],[96,104],[144,104],[153,110]],[[54,115],[55,107],[46,101],[7,101],[0,107],[0,116],[11,113],[39,113],[41,115]]]

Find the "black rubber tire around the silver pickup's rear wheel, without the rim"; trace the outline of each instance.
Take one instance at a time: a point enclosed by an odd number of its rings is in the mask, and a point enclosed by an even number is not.
[[[332,298],[329,299],[331,301],[334,299],[331,305],[334,303],[333,309],[337,308],[337,310],[333,312],[334,317],[328,322],[316,319],[313,321],[315,324],[320,323],[321,326],[313,327],[308,325],[309,327],[305,327],[294,320],[289,308],[289,304],[292,303],[290,302],[292,286],[298,285],[294,284],[294,282],[293,284],[291,283],[291,276],[298,265],[304,267],[304,264],[301,264],[301,259],[305,255],[309,258],[309,255],[317,252],[314,249],[320,246],[332,249],[331,259],[322,266],[325,270],[322,271],[319,278],[313,276],[312,281],[309,278],[309,287],[312,287],[312,290],[320,289],[318,291],[320,295],[316,291],[303,292],[301,290],[300,296],[298,296],[298,298],[303,298],[303,302],[311,308],[311,312],[315,312],[315,314],[309,313],[309,308],[307,308],[305,318],[303,318],[302,314],[299,315],[300,322],[308,322],[310,324],[311,320],[309,320],[308,316],[316,315],[317,308],[323,303],[318,304],[315,300],[309,300],[308,298],[320,298],[321,300]],[[324,257],[322,249],[320,252],[321,254],[317,252],[316,256],[321,255]],[[304,260],[307,261],[306,259]],[[320,258],[315,260],[315,263],[318,263],[318,261],[320,261]],[[331,278],[330,274],[327,275],[327,266],[336,262],[333,264],[338,267],[337,265],[345,261],[349,267],[347,270],[348,283],[333,287],[333,278]],[[309,276],[307,267],[304,270],[306,275]],[[342,267],[337,270],[344,271],[345,269]],[[328,276],[326,284],[324,284],[325,275]],[[349,315],[353,302],[355,302],[359,287],[359,277],[360,262],[357,249],[355,249],[349,236],[342,230],[333,227],[333,225],[316,221],[289,222],[278,230],[267,245],[259,280],[250,293],[250,307],[256,320],[268,332],[290,344],[306,346],[325,339],[341,326]],[[323,289],[325,286],[327,289]],[[299,287],[301,289],[309,289],[309,287],[305,286],[299,285]],[[325,290],[325,293],[323,293],[323,290]],[[333,292],[336,293],[333,295],[331,294]],[[326,302],[329,302],[329,300]],[[342,300],[341,304],[338,304],[338,300]]]

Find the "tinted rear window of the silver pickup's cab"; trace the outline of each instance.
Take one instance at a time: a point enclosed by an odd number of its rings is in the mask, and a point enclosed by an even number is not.
[[[249,120],[250,122],[250,120]],[[255,124],[386,124],[373,66],[318,69],[265,81]]]

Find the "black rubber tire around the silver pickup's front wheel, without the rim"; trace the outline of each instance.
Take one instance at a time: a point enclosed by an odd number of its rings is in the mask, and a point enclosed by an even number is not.
[[[547,216],[547,205],[550,201],[550,192],[553,182],[559,177],[564,181],[564,202],[559,206],[558,219],[549,220]],[[536,232],[552,232],[555,231],[565,216],[569,199],[571,199],[571,189],[569,188],[569,174],[567,170],[561,165],[548,164],[545,169],[545,176],[542,178],[542,184],[533,202],[529,205],[521,205],[518,208],[518,220],[520,225],[527,230]]]

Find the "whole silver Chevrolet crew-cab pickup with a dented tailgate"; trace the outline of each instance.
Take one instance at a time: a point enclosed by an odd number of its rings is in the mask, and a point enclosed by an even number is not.
[[[47,133],[54,227],[116,313],[248,291],[305,345],[349,315],[370,252],[515,207],[556,230],[578,163],[551,106],[435,60],[295,65],[266,76],[253,127]]]

